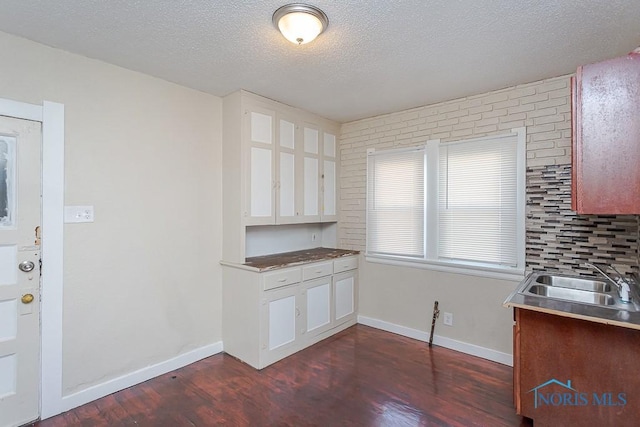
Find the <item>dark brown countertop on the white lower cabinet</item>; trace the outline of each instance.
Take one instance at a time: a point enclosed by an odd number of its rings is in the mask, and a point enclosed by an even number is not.
[[[226,262],[223,262],[222,264],[253,271],[269,271],[278,268],[308,264],[311,262],[341,258],[344,256],[358,255],[359,253],[360,251],[347,249],[313,248],[302,251],[250,257],[245,260],[244,264]]]

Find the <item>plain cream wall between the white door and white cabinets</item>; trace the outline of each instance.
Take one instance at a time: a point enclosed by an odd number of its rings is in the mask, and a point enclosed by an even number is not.
[[[65,105],[65,204],[95,207],[64,229],[63,394],[219,342],[221,99],[4,33],[0,52],[0,98]]]

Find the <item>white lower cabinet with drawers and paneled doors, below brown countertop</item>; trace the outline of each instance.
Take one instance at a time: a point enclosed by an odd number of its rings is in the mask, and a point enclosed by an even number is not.
[[[354,325],[357,267],[357,256],[264,273],[223,265],[224,351],[262,369]]]

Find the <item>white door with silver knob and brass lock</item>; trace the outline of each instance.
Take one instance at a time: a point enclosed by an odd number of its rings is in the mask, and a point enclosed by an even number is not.
[[[39,416],[40,123],[0,117],[0,426]]]

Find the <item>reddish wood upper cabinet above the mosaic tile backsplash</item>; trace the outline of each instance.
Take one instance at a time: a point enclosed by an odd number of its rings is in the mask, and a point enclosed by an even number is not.
[[[640,52],[579,67],[572,86],[572,208],[640,214]]]

